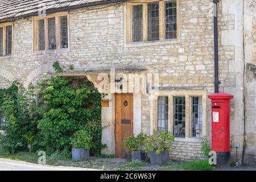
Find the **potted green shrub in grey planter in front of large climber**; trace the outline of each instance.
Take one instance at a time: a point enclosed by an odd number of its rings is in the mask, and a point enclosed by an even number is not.
[[[73,161],[84,161],[89,159],[89,150],[92,147],[92,139],[93,137],[84,129],[73,134],[71,139]]]

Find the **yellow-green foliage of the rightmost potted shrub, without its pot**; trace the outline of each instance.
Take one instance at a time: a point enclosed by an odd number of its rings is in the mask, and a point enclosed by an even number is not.
[[[170,131],[155,130],[151,137],[146,138],[146,152],[152,152],[154,150],[156,154],[163,152],[165,148],[171,151],[171,145],[174,142],[174,136]]]

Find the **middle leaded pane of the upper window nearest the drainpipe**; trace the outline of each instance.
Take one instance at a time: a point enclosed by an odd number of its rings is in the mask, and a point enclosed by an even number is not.
[[[159,40],[159,3],[147,5],[147,40]]]

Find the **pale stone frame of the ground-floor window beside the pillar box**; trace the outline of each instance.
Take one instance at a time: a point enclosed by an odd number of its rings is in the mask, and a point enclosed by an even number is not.
[[[178,140],[196,139],[201,140],[202,137],[206,136],[207,126],[207,91],[206,90],[159,90],[158,97],[168,97],[168,131],[174,133],[174,98],[185,97],[185,137],[175,137]],[[154,93],[153,93],[154,94]],[[158,97],[152,100],[151,103],[151,134],[154,130],[157,130],[157,104]],[[202,97],[202,111],[203,111],[203,134],[201,138],[192,137],[192,97]]]

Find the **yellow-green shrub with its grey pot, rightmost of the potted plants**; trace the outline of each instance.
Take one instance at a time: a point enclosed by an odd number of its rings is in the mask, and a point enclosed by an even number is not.
[[[173,142],[174,136],[166,130],[155,130],[151,137],[147,137],[145,147],[150,156],[150,163],[164,164],[168,162]]]

